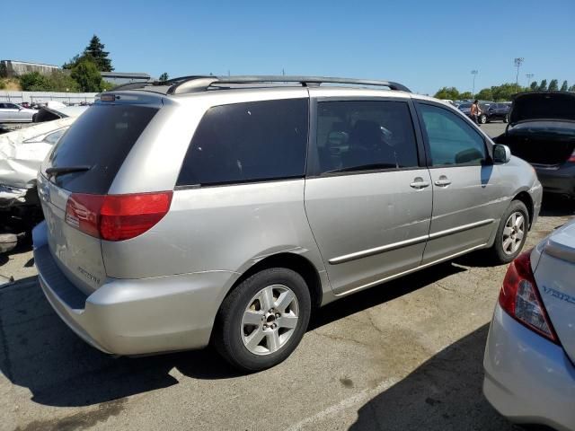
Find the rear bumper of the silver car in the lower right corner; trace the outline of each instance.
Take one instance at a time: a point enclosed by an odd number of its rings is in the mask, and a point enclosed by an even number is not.
[[[575,429],[575,367],[562,347],[511,318],[499,303],[485,356],[483,393],[512,422]]]

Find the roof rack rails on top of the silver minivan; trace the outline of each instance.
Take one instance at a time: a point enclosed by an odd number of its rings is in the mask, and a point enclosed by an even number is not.
[[[353,84],[383,86],[390,90],[411,92],[403,84],[393,81],[381,81],[375,79],[337,78],[331,76],[290,76],[290,75],[239,75],[239,76],[213,76],[213,75],[190,75],[172,78],[167,81],[146,81],[140,83],[121,84],[111,91],[137,90],[146,88],[149,91],[159,90],[166,94],[184,94],[189,92],[204,92],[211,86],[226,84],[301,84],[304,87],[319,86],[321,84]],[[156,87],[156,89],[153,89]]]

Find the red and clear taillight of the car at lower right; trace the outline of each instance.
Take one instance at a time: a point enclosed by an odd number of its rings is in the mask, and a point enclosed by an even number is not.
[[[517,256],[507,269],[500,290],[500,306],[530,330],[559,343],[531,270],[531,251]]]

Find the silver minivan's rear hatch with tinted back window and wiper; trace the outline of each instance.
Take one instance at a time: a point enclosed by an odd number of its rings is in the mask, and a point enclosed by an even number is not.
[[[157,110],[132,104],[94,104],[62,136],[40,171],[38,189],[49,249],[66,277],[86,295],[105,281],[102,240],[97,232],[79,229],[81,223],[94,222],[90,208],[75,204],[75,217],[68,212],[66,219],[66,206],[75,202],[71,197],[82,202],[108,193],[121,164]],[[78,215],[86,217],[84,222],[78,221]]]

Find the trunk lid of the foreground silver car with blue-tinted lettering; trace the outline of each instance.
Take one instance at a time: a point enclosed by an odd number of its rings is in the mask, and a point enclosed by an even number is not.
[[[559,340],[575,362],[575,223],[544,242],[535,282]]]

